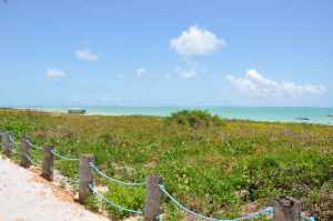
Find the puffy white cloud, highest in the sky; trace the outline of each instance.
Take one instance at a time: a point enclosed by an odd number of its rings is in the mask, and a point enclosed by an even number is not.
[[[225,46],[224,39],[218,38],[213,32],[195,26],[190,27],[178,38],[170,41],[170,48],[180,54],[209,54]]]

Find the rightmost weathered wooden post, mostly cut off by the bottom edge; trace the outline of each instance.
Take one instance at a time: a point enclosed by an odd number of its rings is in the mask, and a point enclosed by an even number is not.
[[[273,200],[273,221],[301,221],[301,202],[291,197]]]

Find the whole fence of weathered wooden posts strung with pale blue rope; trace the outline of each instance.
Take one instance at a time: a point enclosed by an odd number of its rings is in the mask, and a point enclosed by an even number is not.
[[[252,220],[260,218],[262,215],[271,214],[273,221],[315,221],[313,215],[306,215],[305,213],[301,213],[301,202],[293,198],[280,198],[274,199],[272,207],[266,207],[264,209],[259,210],[258,212],[248,213],[240,218],[234,219],[222,219],[222,218],[211,218],[204,214],[198,213],[185,205],[183,205],[175,197],[173,197],[162,183],[162,179],[160,175],[154,174],[147,178],[145,182],[128,182],[122,181],[112,177],[109,177],[104,172],[102,172],[94,163],[93,155],[83,154],[78,158],[71,158],[60,154],[59,152],[53,150],[52,145],[39,147],[27,138],[23,137],[20,142],[16,141],[11,132],[1,132],[0,131],[0,141],[1,147],[3,149],[3,153],[7,157],[10,157],[11,153],[20,154],[21,162],[20,164],[23,168],[29,168],[31,164],[42,168],[42,177],[49,181],[53,180],[53,161],[54,157],[59,160],[64,161],[77,161],[79,162],[79,179],[70,179],[68,178],[68,182],[71,184],[79,184],[79,202],[84,203],[85,199],[90,193],[95,195],[98,199],[103,201],[111,207],[124,211],[128,213],[134,213],[139,215],[143,215],[144,221],[161,221],[162,214],[160,211],[160,199],[164,195],[170,202],[176,205],[183,212],[193,215],[196,219],[208,220],[208,221],[242,221],[242,220]],[[16,150],[14,147],[21,148],[20,151]],[[38,161],[31,158],[29,154],[30,149],[36,149],[42,151],[42,161]],[[104,197],[100,191],[97,190],[93,185],[93,174],[97,173],[110,182],[124,185],[124,187],[145,187],[145,204],[142,210],[134,210],[118,204],[112,200]]]

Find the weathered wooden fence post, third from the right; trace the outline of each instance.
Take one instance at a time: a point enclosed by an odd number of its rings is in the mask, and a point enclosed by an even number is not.
[[[89,197],[89,184],[92,183],[92,171],[90,169],[90,162],[93,162],[92,154],[83,154],[80,158],[79,174],[80,174],[80,188],[79,188],[79,202],[83,203]]]

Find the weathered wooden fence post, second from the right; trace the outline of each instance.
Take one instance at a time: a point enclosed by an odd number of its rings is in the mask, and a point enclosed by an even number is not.
[[[150,175],[147,179],[144,204],[144,221],[158,221],[160,215],[160,198],[162,179],[160,175]]]

